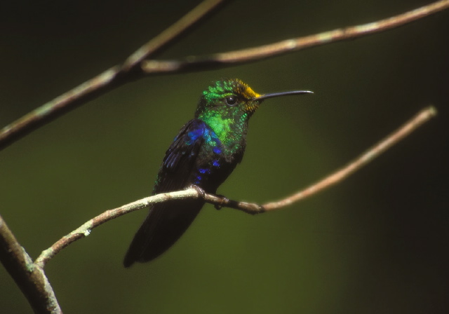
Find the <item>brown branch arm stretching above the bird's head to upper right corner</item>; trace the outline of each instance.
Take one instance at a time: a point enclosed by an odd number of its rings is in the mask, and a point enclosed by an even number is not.
[[[295,39],[286,39],[264,46],[229,51],[227,53],[215,53],[206,56],[190,56],[182,60],[147,60],[142,63],[142,68],[147,74],[169,74],[230,67],[241,63],[267,59],[268,57],[276,57],[285,53],[292,53],[305,48],[321,46],[325,43],[356,39],[368,34],[384,32],[387,29],[406,25],[420,18],[442,11],[445,8],[449,8],[449,0],[436,1],[433,4],[422,6],[421,8],[377,22],[335,29],[330,32]]]

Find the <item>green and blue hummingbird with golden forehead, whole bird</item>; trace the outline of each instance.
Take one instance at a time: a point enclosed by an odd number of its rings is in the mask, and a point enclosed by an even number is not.
[[[248,121],[267,98],[312,93],[293,90],[257,94],[241,80],[215,81],[203,91],[194,119],[180,130],[166,151],[153,195],[198,186],[216,193],[241,163]],[[204,201],[175,200],[152,205],[126,252],[123,265],[147,262],[168,250],[186,231]]]

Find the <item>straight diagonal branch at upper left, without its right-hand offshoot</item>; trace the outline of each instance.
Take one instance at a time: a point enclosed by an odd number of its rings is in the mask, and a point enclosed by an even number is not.
[[[173,26],[169,27],[165,32],[162,32],[159,36],[156,36],[155,39],[149,41],[147,45],[133,53],[123,66],[117,65],[108,69],[102,74],[82,83],[80,86],[69,90],[67,93],[56,97],[54,100],[43,104],[41,107],[34,109],[10,125],[6,125],[6,127],[0,130],[0,150],[11,145],[13,142],[27,135],[29,132],[32,132],[36,128],[41,127],[45,123],[53,121],[67,111],[75,109],[81,104],[85,104],[89,100],[93,100],[117,86],[121,86],[124,83],[128,83],[144,76],[140,66],[137,66],[140,64],[135,64],[135,62],[140,60],[140,57],[153,57],[153,54],[166,48],[169,43],[173,43],[175,39],[180,38],[181,35],[186,34],[195,25],[198,25],[200,20],[204,20],[206,17],[210,16],[214,9],[224,1],[225,0],[203,1]],[[137,69],[138,71],[130,71],[131,69]]]

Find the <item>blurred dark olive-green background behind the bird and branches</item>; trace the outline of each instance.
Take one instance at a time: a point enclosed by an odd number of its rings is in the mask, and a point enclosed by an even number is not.
[[[164,58],[372,22],[430,1],[233,1]],[[3,1],[0,125],[95,76],[199,1]],[[95,229],[46,266],[65,313],[449,313],[449,11],[354,41],[228,69],[145,78],[1,151],[0,213],[36,258],[100,212],[148,196],[210,81],[264,102],[219,192],[265,202],[344,165],[434,104],[438,118],[342,184],[252,217],[206,205],[159,259],[123,254],[147,210]],[[0,313],[31,313],[0,267]]]

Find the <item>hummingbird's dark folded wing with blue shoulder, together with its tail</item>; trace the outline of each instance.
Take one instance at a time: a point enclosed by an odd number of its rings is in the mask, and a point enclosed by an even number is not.
[[[182,127],[166,151],[153,193],[178,191],[192,182],[196,158],[203,146],[208,126],[194,119]],[[165,252],[185,232],[203,207],[203,200],[180,200],[153,205],[126,252],[123,265],[151,261]]]

